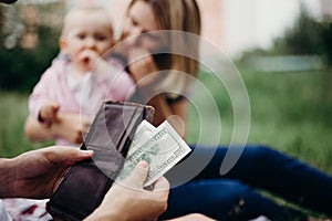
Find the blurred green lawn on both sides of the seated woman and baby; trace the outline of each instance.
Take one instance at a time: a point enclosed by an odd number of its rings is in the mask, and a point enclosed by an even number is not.
[[[329,71],[260,73],[245,69],[240,73],[250,101],[248,143],[272,146],[332,175],[332,94]],[[204,106],[207,93],[196,90],[188,117],[187,140],[227,145],[232,135],[235,117],[227,91],[218,78],[206,72],[200,73],[199,82],[211,93],[219,117],[214,117],[209,106]],[[28,113],[27,94],[2,92],[0,96],[1,157],[12,157],[52,144],[32,144],[27,140],[23,133]],[[204,106],[204,112],[197,107],[199,105]],[[221,122],[220,139],[216,136],[218,120]]]

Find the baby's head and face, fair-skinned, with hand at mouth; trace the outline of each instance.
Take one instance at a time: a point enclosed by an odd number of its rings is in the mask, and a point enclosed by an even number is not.
[[[112,23],[103,13],[75,12],[65,25],[68,32],[62,38],[65,41],[62,50],[74,63],[94,63],[113,46]]]

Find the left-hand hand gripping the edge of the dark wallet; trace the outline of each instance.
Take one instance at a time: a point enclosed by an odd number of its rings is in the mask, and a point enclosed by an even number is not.
[[[76,161],[91,158],[92,155],[91,150],[53,146],[10,159],[13,183],[7,197],[49,198],[68,169]]]

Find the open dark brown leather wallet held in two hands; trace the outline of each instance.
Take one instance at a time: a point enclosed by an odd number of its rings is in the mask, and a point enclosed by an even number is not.
[[[101,105],[81,149],[92,159],[76,162],[46,203],[54,220],[79,221],[102,202],[122,169],[137,126],[152,122],[152,106],[107,101]]]

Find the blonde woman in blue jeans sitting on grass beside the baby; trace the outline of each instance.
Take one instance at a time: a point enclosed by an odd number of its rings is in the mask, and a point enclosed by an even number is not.
[[[180,46],[179,42],[186,42],[186,38],[179,36],[178,40],[176,36],[174,41],[172,33],[157,32],[155,35],[155,31],[160,30],[186,31],[198,35],[200,17],[196,2],[194,0],[133,0],[128,7],[127,21],[123,31],[123,39],[128,40],[123,46],[124,51],[128,52],[125,54],[128,71],[137,82],[137,96],[134,101],[148,103],[156,108],[155,125],[166,118],[169,119],[169,116],[176,116],[173,117],[175,119],[186,119],[185,94],[188,92],[187,84],[190,84],[187,80],[191,80],[190,76],[196,76],[198,72],[198,64],[194,59],[188,60],[180,53],[176,55],[169,53]],[[139,35],[142,33],[144,34]],[[193,41],[195,42],[195,38]],[[188,42],[188,48],[190,56],[197,57],[197,42],[196,44]],[[177,76],[180,73],[189,74],[181,75],[183,78],[179,78]],[[170,118],[170,123],[184,135],[184,127],[177,122]],[[44,133],[39,134],[43,137],[32,133],[34,138],[54,136],[55,128],[41,128],[35,124],[38,123],[31,123],[29,119],[25,127],[28,130],[29,127],[34,127],[34,130],[41,129]],[[68,125],[69,123],[65,123],[64,126],[58,125],[58,127],[65,128]],[[64,131],[63,129],[62,133]],[[247,146],[236,166],[221,177],[219,168],[227,148],[193,147],[193,149],[195,157],[191,161],[191,156],[188,157],[188,161],[184,160],[188,165],[185,170],[189,170],[199,161],[205,161],[209,156],[212,158],[207,161],[207,166],[199,175],[185,185],[178,185],[177,170],[170,170],[166,175],[170,185],[178,187],[170,189],[168,209],[160,219],[191,212],[200,212],[218,220],[248,220],[261,214],[271,220],[305,219],[305,215],[278,206],[247,185],[263,188],[299,206],[331,215],[329,207],[332,202],[332,193],[329,190],[332,187],[332,178],[317,169],[268,147]]]

